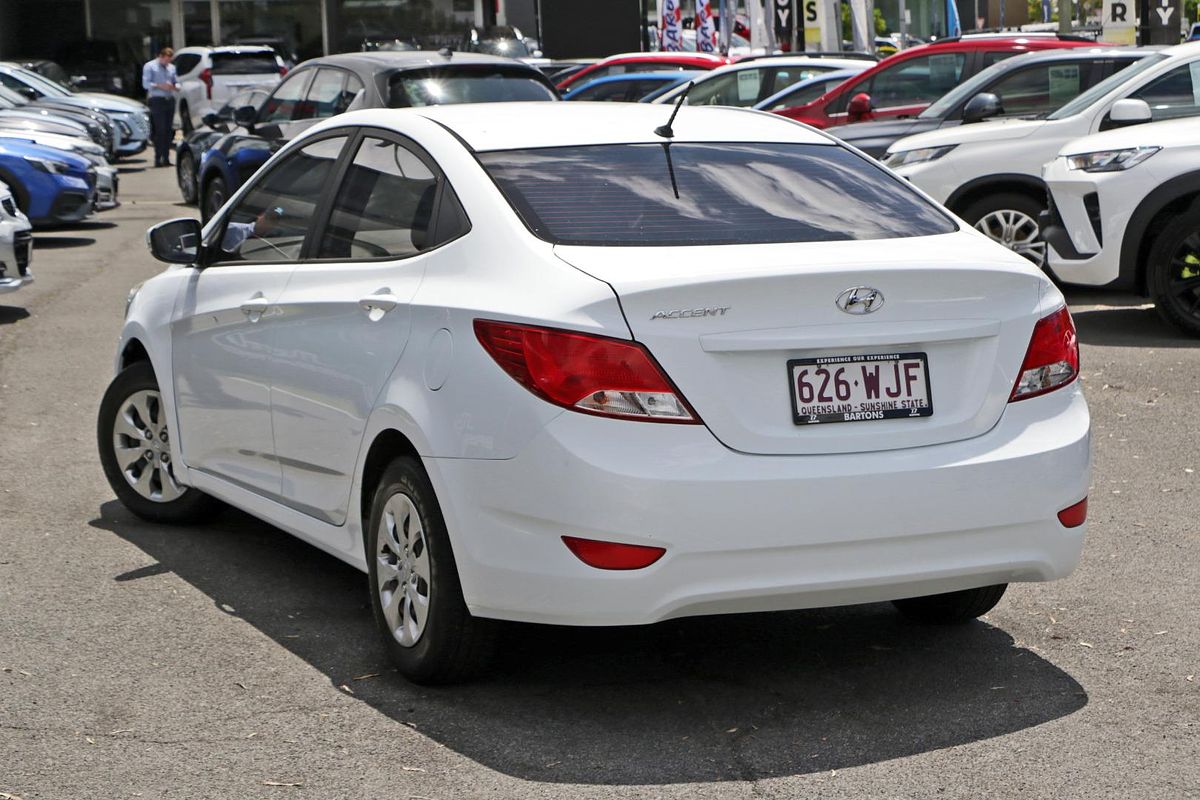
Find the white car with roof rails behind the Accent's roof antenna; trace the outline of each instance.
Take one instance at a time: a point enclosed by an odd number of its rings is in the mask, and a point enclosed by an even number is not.
[[[752,108],[802,80],[840,70],[864,70],[870,65],[870,61],[860,59],[809,59],[803,55],[742,60],[696,78],[684,104]],[[683,91],[684,88],[678,86],[659,95],[654,102],[673,103]]]

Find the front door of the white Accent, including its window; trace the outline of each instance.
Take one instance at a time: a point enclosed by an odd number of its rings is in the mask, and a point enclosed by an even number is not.
[[[205,242],[172,318],[185,464],[277,498],[270,365],[280,295],[347,137],[316,140],[259,174]]]

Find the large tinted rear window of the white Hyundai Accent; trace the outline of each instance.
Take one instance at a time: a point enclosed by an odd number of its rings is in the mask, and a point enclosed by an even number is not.
[[[754,245],[956,230],[904,181],[836,145],[589,145],[479,160],[526,225],[559,245]]]

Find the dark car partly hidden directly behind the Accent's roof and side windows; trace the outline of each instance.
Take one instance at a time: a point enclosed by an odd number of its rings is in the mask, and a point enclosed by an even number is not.
[[[238,127],[200,160],[200,216],[208,219],[284,142],[350,108],[558,100],[534,67],[479,53],[344,53],[305,61],[260,107],[235,109]]]

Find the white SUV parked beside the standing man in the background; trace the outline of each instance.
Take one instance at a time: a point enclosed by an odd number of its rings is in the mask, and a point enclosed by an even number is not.
[[[179,76],[179,125],[187,136],[202,125],[205,114],[224,106],[246,89],[266,89],[280,83],[287,67],[275,49],[262,44],[185,47],[175,53]]]

